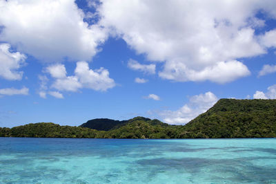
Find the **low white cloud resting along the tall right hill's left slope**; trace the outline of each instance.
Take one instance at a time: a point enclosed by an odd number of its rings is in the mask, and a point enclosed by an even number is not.
[[[217,96],[210,91],[194,95],[190,98],[188,104],[184,104],[177,111],[161,111],[159,116],[168,124],[184,125],[199,114],[206,112],[210,107],[213,107],[217,100]]]

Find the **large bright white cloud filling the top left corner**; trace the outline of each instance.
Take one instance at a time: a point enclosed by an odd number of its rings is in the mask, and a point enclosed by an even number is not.
[[[41,60],[90,60],[108,35],[84,17],[74,0],[1,1],[0,40]]]

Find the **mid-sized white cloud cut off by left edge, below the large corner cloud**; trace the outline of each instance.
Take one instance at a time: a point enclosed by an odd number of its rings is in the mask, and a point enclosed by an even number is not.
[[[10,44],[0,44],[0,77],[6,80],[21,80],[23,71],[18,71],[25,64],[26,56],[10,52]]]

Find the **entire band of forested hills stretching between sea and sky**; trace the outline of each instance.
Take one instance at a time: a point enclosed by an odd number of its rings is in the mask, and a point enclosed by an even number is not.
[[[92,128],[92,129],[91,129]],[[106,131],[103,131],[106,130]],[[276,137],[276,100],[221,99],[184,126],[136,117],[90,120],[80,127],[40,122],[0,128],[0,136],[37,138],[266,138]]]

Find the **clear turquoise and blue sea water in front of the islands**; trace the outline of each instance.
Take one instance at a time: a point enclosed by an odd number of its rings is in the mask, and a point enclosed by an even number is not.
[[[0,183],[276,183],[276,139],[0,138]]]

